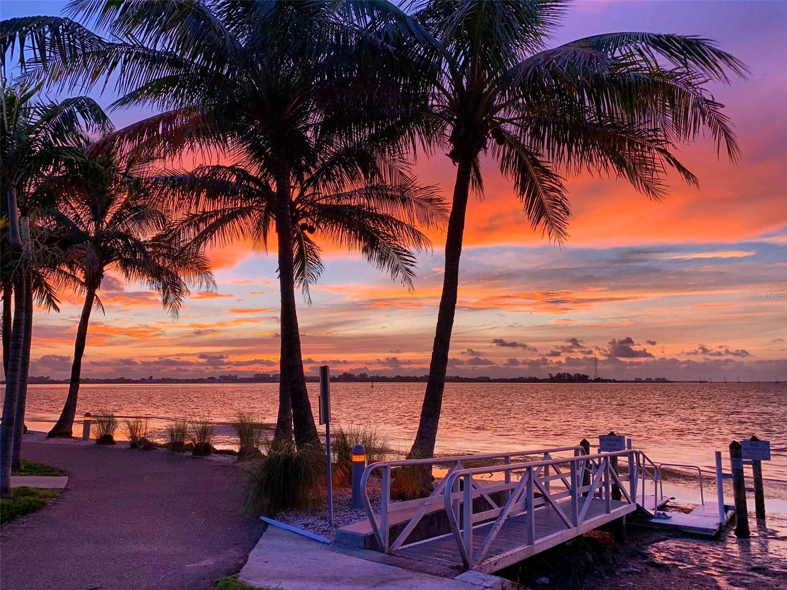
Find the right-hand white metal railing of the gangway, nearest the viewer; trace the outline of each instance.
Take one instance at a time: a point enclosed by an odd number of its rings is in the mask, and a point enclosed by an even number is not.
[[[499,533],[502,529],[505,520],[507,518],[512,518],[513,516],[518,516],[523,512],[526,514],[525,518],[527,537],[525,544],[534,544],[536,542],[534,509],[538,505],[545,505],[549,503],[556,511],[556,514],[558,514],[558,516],[560,516],[560,518],[563,520],[564,524],[567,525],[567,528],[571,529],[578,527],[582,522],[584,522],[586,514],[588,513],[590,502],[593,500],[596,489],[599,490],[601,497],[604,499],[606,514],[609,514],[613,510],[611,505],[611,487],[613,485],[619,485],[619,489],[621,489],[623,492],[623,495],[621,496],[622,500],[625,497],[626,503],[636,503],[633,485],[634,480],[632,479],[632,477],[636,478],[636,475],[632,473],[632,466],[634,465],[635,455],[637,455],[638,452],[639,451],[634,449],[626,449],[624,451],[598,453],[596,455],[575,455],[574,457],[568,459],[546,459],[542,461],[533,461],[530,463],[518,463],[512,465],[468,467],[465,469],[453,471],[446,476],[445,489],[458,489],[457,484],[459,483],[460,479],[464,478],[464,489],[461,492],[462,499],[457,500],[454,498],[454,494],[446,493],[443,498],[443,502],[445,504],[445,513],[449,518],[449,524],[451,525],[451,530],[456,540],[456,544],[464,566],[471,568],[482,562],[486,556],[486,553],[490,550],[493,541],[497,537],[497,533]],[[629,473],[623,478],[621,478],[619,474],[616,473],[615,469],[612,468],[612,462],[610,460],[620,456],[627,456],[629,459]],[[584,464],[589,461],[596,462],[598,468],[596,474],[594,474],[591,485],[585,486],[582,485],[582,476],[578,474],[578,466],[580,463],[582,463],[583,470]],[[569,474],[567,474],[570,478],[570,483],[566,481],[565,478],[559,479],[561,479],[564,485],[566,485],[567,490],[565,492],[560,492],[559,494],[550,494],[549,490],[546,488],[546,484],[549,483],[550,479],[549,467],[565,463],[570,463],[570,471]],[[475,514],[475,517],[478,518],[478,521],[474,521],[473,476],[500,472],[511,473],[513,470],[524,470],[525,473],[519,480],[518,484],[515,486],[515,489],[513,490],[512,495],[509,497],[505,506],[496,507],[491,511],[483,512],[482,514]],[[546,472],[546,476],[541,475],[544,472]],[[604,476],[603,484],[602,475]],[[543,478],[543,481],[539,481],[539,477]],[[614,483],[615,481],[617,484]],[[625,486],[623,486],[624,481],[629,481],[628,491],[626,491]],[[601,487],[602,485],[604,490],[603,492]],[[541,493],[541,497],[538,499],[538,504],[536,503],[534,496],[535,488],[538,488],[538,491]],[[588,497],[583,498],[581,493],[586,488],[589,489]],[[481,495],[481,490],[476,491],[478,492],[476,496]],[[521,498],[523,495],[525,496],[525,500],[522,503]],[[563,508],[558,505],[557,500],[563,500],[568,497],[571,498],[571,512],[567,516],[563,513]],[[580,506],[582,501],[584,501],[583,505]],[[464,514],[461,528],[457,518],[459,511],[456,504],[458,502],[462,502],[464,504]],[[520,507],[519,511],[515,511],[515,507],[517,506]],[[489,532],[486,534],[486,538],[482,541],[481,546],[474,555],[474,522],[489,522],[491,518],[496,519],[493,522]]]

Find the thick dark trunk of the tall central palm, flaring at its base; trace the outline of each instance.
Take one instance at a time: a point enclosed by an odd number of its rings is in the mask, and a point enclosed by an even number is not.
[[[320,448],[320,436],[314,423],[312,404],[306,390],[301,355],[301,334],[295,307],[295,271],[293,263],[292,217],[290,212],[290,170],[282,164],[276,173],[276,234],[279,242],[279,290],[281,291],[281,374],[286,379],[292,404],[295,444]],[[281,389],[279,389],[281,391]]]

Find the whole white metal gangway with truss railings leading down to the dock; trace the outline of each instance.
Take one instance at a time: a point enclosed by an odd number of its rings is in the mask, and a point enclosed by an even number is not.
[[[565,452],[573,455],[557,456]],[[638,466],[644,460],[634,449],[586,455],[582,447],[562,447],[388,461],[369,465],[361,485],[380,551],[493,573],[637,511]],[[478,461],[497,464],[464,466]],[[393,468],[437,463],[452,466],[430,496],[390,502]],[[626,474],[618,473],[618,465],[627,466]],[[382,478],[379,515],[366,493],[375,471]],[[397,511],[412,516],[391,539],[389,523]],[[438,511],[445,511],[450,532],[409,540],[424,516]]]

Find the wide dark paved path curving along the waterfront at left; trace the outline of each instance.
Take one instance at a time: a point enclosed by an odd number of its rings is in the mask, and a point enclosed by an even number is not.
[[[25,443],[65,490],[0,530],[2,590],[201,590],[238,572],[264,523],[231,465],[166,452]]]

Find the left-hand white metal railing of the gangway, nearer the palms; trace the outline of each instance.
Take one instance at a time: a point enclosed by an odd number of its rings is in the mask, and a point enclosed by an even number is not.
[[[504,452],[504,453],[488,453],[486,455],[453,455],[450,457],[429,457],[427,459],[397,459],[395,461],[378,461],[377,463],[371,463],[368,465],[364,470],[364,474],[361,475],[360,478],[360,489],[363,490],[363,494],[361,495],[361,500],[364,503],[364,510],[366,511],[366,515],[369,519],[371,524],[371,530],[375,534],[375,539],[379,545],[381,551],[388,552],[390,549],[389,543],[389,527],[388,527],[388,512],[390,507],[390,474],[392,467],[401,467],[401,466],[419,466],[419,465],[435,465],[438,463],[453,463],[453,466],[449,470],[449,474],[451,474],[454,470],[458,469],[461,466],[463,461],[484,461],[490,459],[504,459],[506,465],[510,465],[511,459],[513,457],[525,457],[531,455],[550,455],[552,453],[557,452],[574,452],[576,455],[585,455],[585,449],[579,445],[575,446],[568,446],[568,447],[554,447],[554,448],[536,448],[536,449],[526,449],[524,451],[515,451],[515,452]],[[559,462],[562,461],[566,463],[567,459],[558,459]],[[524,463],[527,465],[527,463]],[[368,494],[368,479],[371,473],[375,470],[382,470],[382,494],[380,498],[380,517],[379,517],[379,524],[377,522],[376,514],[374,509],[371,507],[371,500],[369,500]],[[409,502],[402,502],[399,503],[399,506],[412,506],[415,504],[420,504],[419,511],[412,517],[411,521],[408,523],[405,530],[400,533],[397,540],[394,542],[394,545],[401,544],[403,540],[407,537],[409,533],[412,532],[412,529],[418,524],[423,514],[426,513],[427,508],[434,503],[434,499],[439,496],[442,490],[445,488],[446,479],[444,478],[443,481],[438,485],[437,488],[427,496],[427,498],[419,499],[419,500],[410,500]],[[511,470],[505,472],[505,485],[511,485]],[[450,493],[449,493],[450,495]],[[395,547],[394,547],[395,548]]]

